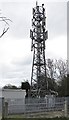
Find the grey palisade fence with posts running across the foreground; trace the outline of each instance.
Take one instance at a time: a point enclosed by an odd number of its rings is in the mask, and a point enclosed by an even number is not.
[[[23,99],[7,99],[2,98],[2,117],[10,115],[31,115],[36,113],[57,113],[61,116],[68,115],[69,97],[46,97],[46,98],[26,98]]]

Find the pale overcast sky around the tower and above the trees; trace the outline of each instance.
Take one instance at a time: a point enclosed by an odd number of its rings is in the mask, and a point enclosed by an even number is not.
[[[67,3],[46,2],[46,59],[67,59]],[[31,19],[32,8],[36,1],[0,2],[2,16],[10,18],[10,29],[0,38],[0,87],[6,84],[21,85],[24,80],[31,79]],[[3,26],[0,23],[0,33]]]

